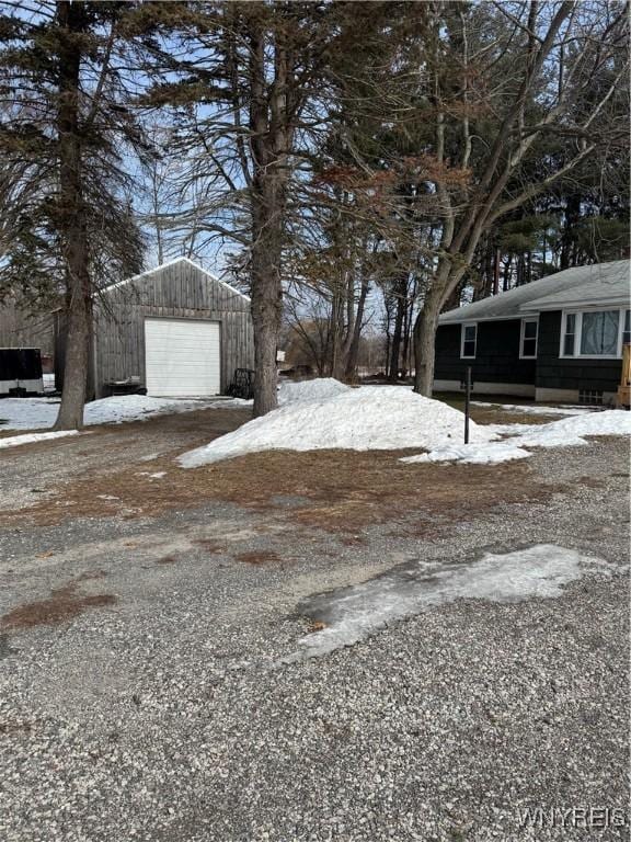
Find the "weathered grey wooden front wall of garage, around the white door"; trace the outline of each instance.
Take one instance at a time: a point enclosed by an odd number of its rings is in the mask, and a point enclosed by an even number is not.
[[[250,301],[187,261],[111,288],[96,307],[96,397],[107,380],[138,376],[145,383],[145,319],[202,319],[221,325],[221,391],[234,368],[253,365]]]

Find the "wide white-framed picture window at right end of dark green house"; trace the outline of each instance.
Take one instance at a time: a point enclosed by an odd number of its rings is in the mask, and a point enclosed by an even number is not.
[[[566,312],[561,332],[561,356],[619,357],[631,341],[629,310]]]

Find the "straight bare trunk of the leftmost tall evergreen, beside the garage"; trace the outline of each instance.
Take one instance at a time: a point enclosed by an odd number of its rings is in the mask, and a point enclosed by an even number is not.
[[[59,50],[59,230],[64,253],[68,321],[64,390],[56,430],[80,430],[88,383],[92,337],[92,289],[88,231],[83,213],[82,149],[79,132],[79,73],[81,48],[77,37],[84,29],[80,3],[58,2],[65,30]]]

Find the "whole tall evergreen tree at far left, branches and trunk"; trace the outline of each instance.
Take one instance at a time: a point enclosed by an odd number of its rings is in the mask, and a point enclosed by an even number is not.
[[[130,10],[59,0],[35,3],[28,15],[19,5],[0,15],[0,151],[20,208],[0,274],[3,288],[64,296],[56,429],[83,423],[99,288],[142,261],[126,160],[142,139],[116,66]]]

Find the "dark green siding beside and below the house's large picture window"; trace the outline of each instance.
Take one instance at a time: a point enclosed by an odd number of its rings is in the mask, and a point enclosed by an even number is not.
[[[561,310],[539,316],[536,386],[538,389],[572,389],[613,392],[620,385],[621,360],[581,360],[560,356]]]

